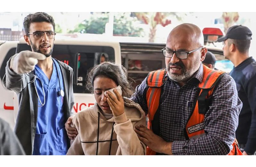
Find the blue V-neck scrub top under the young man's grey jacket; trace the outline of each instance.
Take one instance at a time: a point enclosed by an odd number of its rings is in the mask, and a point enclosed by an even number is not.
[[[46,102],[43,107],[39,107],[41,104],[38,100],[38,117],[33,155],[66,155],[68,150],[67,133],[64,128],[63,97],[57,94],[60,90],[59,85],[64,90],[63,78],[59,64],[56,60],[53,59],[53,61],[53,72],[50,80],[38,65],[35,66],[35,74],[43,83]],[[57,70],[61,84],[59,84]],[[38,78],[36,79],[36,88],[39,98],[43,103],[44,95]]]

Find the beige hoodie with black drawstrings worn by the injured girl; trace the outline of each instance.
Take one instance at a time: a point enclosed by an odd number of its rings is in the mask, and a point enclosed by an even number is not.
[[[136,125],[146,125],[145,113],[138,103],[125,97],[124,111],[107,119],[95,103],[78,112],[71,124],[78,135],[67,155],[96,155],[97,147],[98,155],[146,155],[146,145],[134,132]]]

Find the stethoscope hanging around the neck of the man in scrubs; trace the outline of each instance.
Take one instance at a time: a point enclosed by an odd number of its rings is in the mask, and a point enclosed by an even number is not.
[[[64,90],[61,88],[61,85],[60,85],[59,71],[58,71],[58,69],[57,69],[57,65],[56,65],[56,63],[55,63],[54,60],[53,60],[53,63],[54,63],[54,65],[55,65],[55,67],[56,67],[57,77],[58,77],[59,86],[60,86],[60,90],[57,91],[57,95],[58,95],[58,96],[61,96],[61,97],[64,97],[64,95],[65,95],[65,94],[64,94]],[[35,72],[34,72],[34,73],[35,73]],[[37,97],[38,97],[38,101],[39,101],[39,103],[41,104],[41,106],[38,105],[38,107],[43,107],[43,106],[45,105],[45,91],[44,91],[43,82],[40,80],[40,78],[37,77],[36,73],[35,73],[35,75],[29,75],[29,74],[26,73],[26,75],[28,75],[28,76],[30,76],[30,77],[35,77],[35,78],[34,78],[32,81],[30,81],[29,83],[32,83],[32,82],[34,83],[34,86],[35,86],[35,89],[36,89],[36,94],[37,94]],[[43,103],[41,102],[41,100],[40,100],[40,98],[39,98],[39,95],[38,95],[38,92],[37,92],[37,87],[36,87],[36,82],[35,82],[36,79],[38,79],[38,80],[40,81],[41,85],[42,85],[42,90],[43,90],[43,95],[44,95],[44,102],[43,102]]]

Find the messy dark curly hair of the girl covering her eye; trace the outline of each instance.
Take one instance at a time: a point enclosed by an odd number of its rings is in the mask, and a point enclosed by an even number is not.
[[[132,78],[128,77],[128,72],[122,65],[115,65],[112,62],[103,62],[89,70],[87,73],[87,85],[86,88],[93,93],[93,82],[97,76],[104,76],[114,80],[116,85],[122,87],[122,96],[130,98],[134,93],[132,87]]]

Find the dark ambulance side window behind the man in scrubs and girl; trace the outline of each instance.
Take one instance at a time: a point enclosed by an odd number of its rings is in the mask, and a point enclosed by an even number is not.
[[[18,44],[17,53],[22,50],[31,50],[31,47],[27,44]],[[101,61],[115,62],[115,50],[109,46],[55,44],[52,57],[73,68],[74,93],[89,93],[85,88],[87,70]]]

